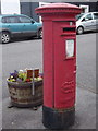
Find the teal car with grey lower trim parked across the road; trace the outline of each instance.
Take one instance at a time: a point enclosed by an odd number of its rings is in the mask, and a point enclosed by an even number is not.
[[[7,44],[12,37],[42,37],[42,23],[24,14],[0,15],[1,43]]]

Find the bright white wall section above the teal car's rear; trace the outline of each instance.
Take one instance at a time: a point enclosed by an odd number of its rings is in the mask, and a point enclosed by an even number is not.
[[[1,0],[1,14],[20,14],[20,0]]]

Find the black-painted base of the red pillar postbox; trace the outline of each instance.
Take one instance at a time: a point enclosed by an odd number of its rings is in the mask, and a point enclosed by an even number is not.
[[[75,108],[57,110],[42,106],[42,123],[48,129],[68,129],[75,121]]]

